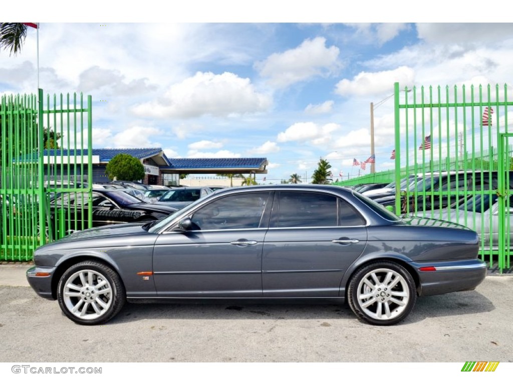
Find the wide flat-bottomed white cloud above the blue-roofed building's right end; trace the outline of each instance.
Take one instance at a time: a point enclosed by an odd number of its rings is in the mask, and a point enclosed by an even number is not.
[[[196,72],[170,87],[163,98],[133,108],[139,116],[193,118],[202,115],[229,117],[262,112],[271,106],[269,95],[255,90],[249,79],[231,72],[215,75]]]

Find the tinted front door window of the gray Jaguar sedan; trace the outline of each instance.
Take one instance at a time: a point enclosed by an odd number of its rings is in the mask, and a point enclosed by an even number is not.
[[[196,210],[191,221],[201,230],[259,228],[269,192],[251,192],[216,199]]]

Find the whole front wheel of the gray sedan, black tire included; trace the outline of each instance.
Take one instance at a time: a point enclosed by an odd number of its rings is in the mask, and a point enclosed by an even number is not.
[[[66,317],[73,322],[97,325],[121,311],[126,302],[125,286],[109,266],[97,261],[84,261],[71,266],[63,274],[57,287],[57,301]]]

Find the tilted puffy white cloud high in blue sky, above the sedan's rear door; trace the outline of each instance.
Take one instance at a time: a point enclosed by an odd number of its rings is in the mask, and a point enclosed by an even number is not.
[[[327,75],[337,68],[339,48],[326,47],[324,37],[307,39],[294,49],[273,53],[255,64],[263,78],[275,87],[284,88],[308,80],[312,76]]]

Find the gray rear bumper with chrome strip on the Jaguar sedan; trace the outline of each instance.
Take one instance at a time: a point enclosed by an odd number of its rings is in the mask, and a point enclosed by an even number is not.
[[[474,290],[486,277],[486,263],[479,260],[444,263],[411,263],[416,269],[420,285],[419,296]],[[435,267],[435,271],[420,271],[421,267]]]

